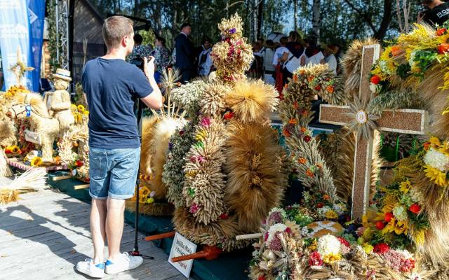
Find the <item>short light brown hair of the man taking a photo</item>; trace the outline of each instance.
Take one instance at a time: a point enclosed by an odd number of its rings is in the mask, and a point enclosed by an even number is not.
[[[111,49],[119,47],[121,39],[124,36],[130,36],[133,34],[133,31],[132,20],[120,15],[114,15],[105,20],[102,33],[107,48]],[[133,38],[131,38],[131,40],[132,39]]]

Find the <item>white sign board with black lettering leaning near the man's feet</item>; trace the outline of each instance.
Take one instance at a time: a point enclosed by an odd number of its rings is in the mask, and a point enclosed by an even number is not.
[[[185,260],[183,262],[172,262],[171,258],[179,257],[181,255],[190,255],[196,252],[196,244],[189,241],[187,238],[183,237],[176,232],[175,239],[173,239],[173,244],[171,246],[170,255],[168,256],[168,262],[171,263],[177,270],[179,270],[182,275],[189,278],[190,271],[192,270],[192,265],[194,260]]]

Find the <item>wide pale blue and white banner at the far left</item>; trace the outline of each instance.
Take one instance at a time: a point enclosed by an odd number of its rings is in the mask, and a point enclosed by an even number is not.
[[[18,84],[9,70],[17,63],[18,50],[22,62],[30,66],[27,0],[0,0],[0,51],[6,88]],[[32,73],[26,72],[20,83],[32,89]]]

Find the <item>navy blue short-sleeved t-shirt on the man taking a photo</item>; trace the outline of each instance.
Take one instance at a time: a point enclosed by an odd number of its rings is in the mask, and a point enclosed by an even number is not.
[[[134,104],[153,91],[145,74],[122,59],[98,57],[86,63],[82,83],[90,112],[89,146],[140,147]]]

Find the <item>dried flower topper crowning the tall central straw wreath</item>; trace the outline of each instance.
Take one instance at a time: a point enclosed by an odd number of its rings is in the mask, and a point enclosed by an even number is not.
[[[254,55],[251,45],[242,37],[243,22],[235,14],[218,25],[222,41],[213,46],[210,56],[217,68],[217,78],[226,83],[234,83],[244,77],[253,62]]]

